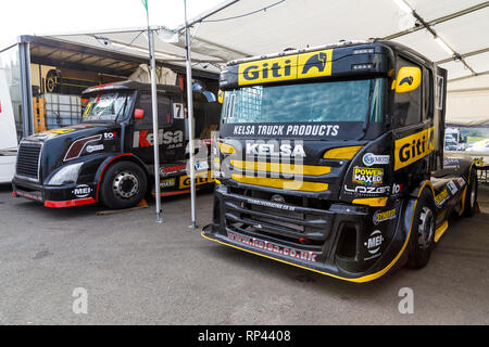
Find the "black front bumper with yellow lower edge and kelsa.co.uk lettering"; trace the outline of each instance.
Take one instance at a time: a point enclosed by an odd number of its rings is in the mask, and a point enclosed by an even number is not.
[[[337,279],[368,282],[404,260],[415,202],[388,204],[310,208],[221,188],[214,194],[213,222],[202,236]]]

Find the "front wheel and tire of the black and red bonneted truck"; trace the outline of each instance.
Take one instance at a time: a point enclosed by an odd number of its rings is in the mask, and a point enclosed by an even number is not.
[[[111,165],[102,178],[100,197],[109,208],[134,207],[142,200],[148,179],[142,168],[133,162]]]

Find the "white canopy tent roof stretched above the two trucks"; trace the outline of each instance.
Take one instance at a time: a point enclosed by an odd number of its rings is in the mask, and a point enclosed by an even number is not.
[[[423,53],[448,69],[447,121],[489,124],[489,1],[227,0],[193,20],[192,67],[287,48],[380,38]],[[153,27],[158,61],[185,64],[185,28]],[[148,56],[146,28],[51,38]]]

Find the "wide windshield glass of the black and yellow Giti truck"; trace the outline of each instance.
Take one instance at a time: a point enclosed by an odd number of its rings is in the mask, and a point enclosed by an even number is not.
[[[223,124],[383,120],[385,79],[289,86],[254,86],[226,91]]]

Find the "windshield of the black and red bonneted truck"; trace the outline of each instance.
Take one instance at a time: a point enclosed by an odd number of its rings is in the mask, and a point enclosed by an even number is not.
[[[115,121],[124,118],[131,93],[109,92],[90,95],[82,121]]]

